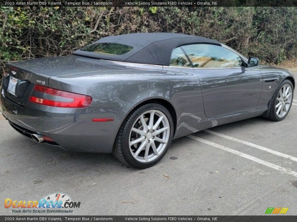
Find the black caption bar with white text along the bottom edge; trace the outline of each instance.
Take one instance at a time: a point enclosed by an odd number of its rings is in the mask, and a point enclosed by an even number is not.
[[[177,221],[215,221],[215,222],[295,222],[297,216],[0,216],[0,221],[113,221],[113,222],[177,222]]]

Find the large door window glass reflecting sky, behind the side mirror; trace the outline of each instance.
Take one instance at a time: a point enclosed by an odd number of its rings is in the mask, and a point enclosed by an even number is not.
[[[211,44],[192,44],[182,46],[196,68],[241,67],[239,55],[222,46]]]

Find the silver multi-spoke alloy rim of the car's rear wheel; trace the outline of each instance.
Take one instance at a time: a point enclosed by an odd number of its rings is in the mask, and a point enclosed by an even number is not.
[[[132,156],[139,162],[151,162],[165,150],[170,138],[168,118],[153,109],[141,114],[134,122],[129,136]]]

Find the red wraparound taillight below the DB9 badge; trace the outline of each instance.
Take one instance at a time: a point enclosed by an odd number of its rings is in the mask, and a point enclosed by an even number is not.
[[[29,98],[30,102],[41,105],[64,108],[84,108],[88,107],[92,102],[92,97],[90,96],[81,95],[73,92],[65,92],[62,90],[53,89],[41,85],[35,85],[33,91],[45,93],[43,98],[35,96],[30,96]],[[53,97],[54,99],[49,100],[45,98],[46,94],[54,95],[57,97]],[[63,100],[63,98],[61,97],[64,97],[64,101],[61,101]],[[65,102],[65,98],[67,98],[67,102]]]

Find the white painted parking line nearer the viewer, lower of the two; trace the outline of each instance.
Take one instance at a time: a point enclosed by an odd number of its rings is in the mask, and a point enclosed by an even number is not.
[[[280,172],[283,172],[283,173],[285,173],[285,174],[288,174],[288,175],[292,175],[292,176],[297,177],[297,172],[295,172],[295,171],[287,170],[287,169],[284,168],[284,167],[280,167],[280,166],[275,165],[275,164],[273,164],[273,163],[270,163],[270,162],[267,162],[267,161],[258,159],[258,158],[256,158],[256,157],[250,156],[250,155],[248,155],[248,154],[239,152],[239,151],[237,151],[237,150],[233,150],[233,149],[231,149],[231,148],[229,148],[229,147],[222,146],[222,145],[220,145],[220,144],[217,144],[217,143],[214,143],[214,142],[210,142],[210,141],[208,141],[208,140],[205,140],[205,139],[202,139],[202,138],[193,136],[193,135],[188,135],[187,137],[189,137],[189,138],[191,138],[191,139],[194,139],[194,140],[196,140],[196,141],[199,141],[199,142],[203,142],[203,143],[208,144],[208,145],[210,145],[210,146],[217,147],[217,148],[219,148],[219,149],[221,149],[221,150],[225,150],[225,151],[227,151],[227,152],[233,153],[233,154],[238,155],[238,156],[241,156],[241,157],[243,157],[243,158],[252,160],[252,161],[254,161],[254,162],[260,163],[260,164],[262,164],[262,165],[264,165],[264,166],[273,168],[273,169],[278,170],[278,171],[280,171]]]

